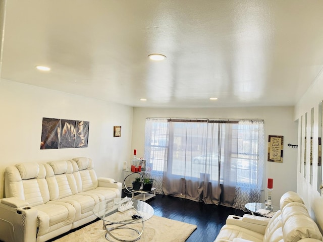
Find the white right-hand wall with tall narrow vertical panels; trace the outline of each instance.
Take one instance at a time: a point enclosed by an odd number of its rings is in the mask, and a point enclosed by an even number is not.
[[[306,207],[309,210],[311,216],[317,220],[320,228],[323,228],[323,212],[321,209],[321,205],[323,205],[323,199],[320,194],[317,192],[316,183],[317,180],[320,180],[320,177],[317,177],[317,169],[321,169],[321,167],[317,166],[317,154],[318,154],[318,146],[317,146],[317,137],[318,137],[318,104],[321,100],[323,100],[323,75],[320,73],[319,76],[316,77],[315,81],[308,88],[303,97],[298,101],[297,105],[295,105],[295,119],[299,119],[301,115],[303,116],[305,112],[308,113],[308,132],[307,137],[309,135],[309,117],[311,108],[314,108],[314,124],[313,124],[313,186],[309,183],[309,175],[308,171],[310,169],[309,162],[307,162],[306,171],[307,176],[304,178],[304,167],[301,165],[301,172],[299,172],[300,162],[298,162],[298,171],[297,171],[297,193],[299,193],[305,201]],[[303,121],[304,122],[304,121]],[[299,122],[300,125],[300,122]],[[300,129],[301,127],[299,127]],[[300,142],[300,132],[299,132],[299,142]],[[307,139],[309,141],[309,139]],[[308,143],[309,144],[309,143]],[[304,147],[303,147],[304,148]],[[307,160],[309,159],[309,151],[307,153]],[[298,159],[302,159],[303,162],[303,154],[299,155]],[[321,229],[322,231],[322,229]]]

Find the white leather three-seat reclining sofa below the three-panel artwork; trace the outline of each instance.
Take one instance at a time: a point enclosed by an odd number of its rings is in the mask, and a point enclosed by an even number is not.
[[[96,219],[93,207],[120,198],[122,184],[97,178],[90,158],[27,162],[5,171],[0,240],[43,242]]]

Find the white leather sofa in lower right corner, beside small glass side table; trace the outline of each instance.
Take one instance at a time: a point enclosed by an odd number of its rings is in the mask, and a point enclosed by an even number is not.
[[[280,199],[272,218],[245,214],[229,215],[214,242],[317,242],[323,237],[310,218],[303,200],[294,192]]]

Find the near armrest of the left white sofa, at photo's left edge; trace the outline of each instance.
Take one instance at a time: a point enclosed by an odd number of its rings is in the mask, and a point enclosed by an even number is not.
[[[28,203],[17,198],[0,200],[0,240],[11,241],[14,237],[15,242],[36,241],[38,212],[25,205]]]

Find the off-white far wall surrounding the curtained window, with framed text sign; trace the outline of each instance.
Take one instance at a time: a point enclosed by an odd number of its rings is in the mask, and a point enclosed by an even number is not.
[[[255,118],[264,119],[265,139],[268,135],[284,136],[283,163],[265,161],[264,188],[266,178],[274,179],[273,204],[286,191],[296,192],[297,149],[287,144],[297,144],[297,123],[294,122],[293,107],[250,107],[250,108],[139,108],[133,112],[132,149],[137,156],[144,153],[144,134],[146,117],[178,118]],[[265,147],[267,153],[267,146]],[[266,196],[266,194],[265,194]],[[264,196],[262,197],[264,201]]]

